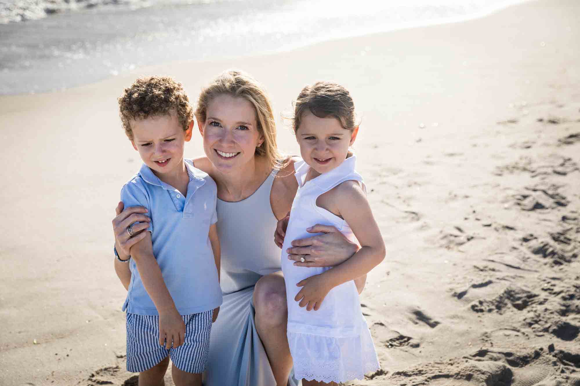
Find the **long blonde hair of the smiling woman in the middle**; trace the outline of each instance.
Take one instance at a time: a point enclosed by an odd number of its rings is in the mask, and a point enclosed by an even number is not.
[[[284,167],[287,162],[284,161],[285,157],[278,150],[276,144],[276,122],[266,89],[256,79],[243,71],[224,71],[201,90],[194,112],[198,122],[205,122],[209,103],[220,95],[244,98],[252,103],[256,110],[258,132],[264,138],[263,143],[256,147],[254,154],[266,157],[270,167],[274,169]]]

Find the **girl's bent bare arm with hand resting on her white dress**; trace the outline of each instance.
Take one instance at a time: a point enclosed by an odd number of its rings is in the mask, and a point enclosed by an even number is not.
[[[361,248],[348,260],[332,270],[300,281],[296,295],[300,307],[317,310],[328,292],[342,283],[361,278],[385,258],[385,242],[372,216],[367,197],[357,181],[345,181],[333,190],[332,201],[349,224]]]

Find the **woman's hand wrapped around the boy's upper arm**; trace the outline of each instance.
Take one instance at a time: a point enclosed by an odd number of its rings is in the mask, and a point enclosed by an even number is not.
[[[123,203],[119,202],[115,209],[117,216],[113,219],[115,246],[117,247],[119,257],[123,260],[131,254],[129,253],[131,247],[145,237],[146,232],[143,232],[143,230],[146,230],[149,227],[149,221],[151,221],[149,217],[142,214],[147,213],[147,209],[143,206],[132,206],[123,210],[124,207]],[[139,221],[140,224],[133,227],[134,235],[129,236],[127,228],[136,221]]]

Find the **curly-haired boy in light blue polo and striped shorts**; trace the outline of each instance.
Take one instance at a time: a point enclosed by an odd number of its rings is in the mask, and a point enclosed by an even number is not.
[[[176,385],[201,385],[212,320],[222,304],[216,184],[183,159],[194,122],[180,83],[137,79],[118,101],[125,133],[143,160],[121,201],[145,207],[150,216],[126,220],[127,236],[142,239],[129,258],[115,261],[128,290],[127,370],[140,373],[140,385],[163,384],[171,358]]]

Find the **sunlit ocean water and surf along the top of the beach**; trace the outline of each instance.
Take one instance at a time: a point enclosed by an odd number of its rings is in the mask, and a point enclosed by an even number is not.
[[[523,1],[0,0],[0,94],[466,20]]]

